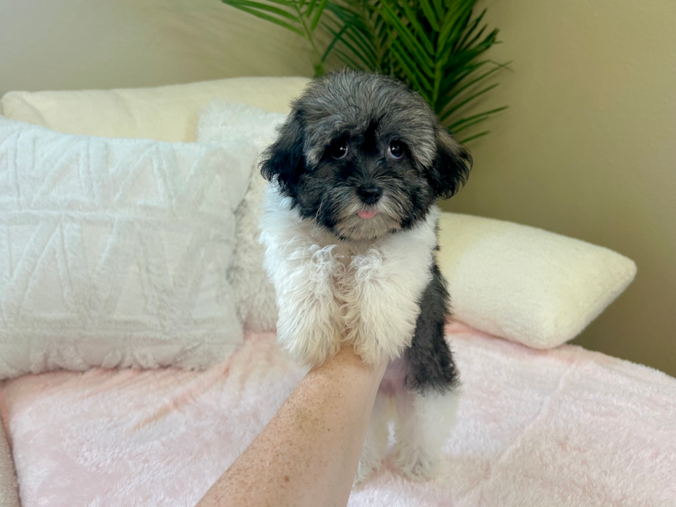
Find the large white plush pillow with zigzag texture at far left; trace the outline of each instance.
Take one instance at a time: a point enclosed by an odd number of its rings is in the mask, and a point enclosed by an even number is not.
[[[255,152],[0,117],[0,378],[206,368],[241,343],[226,278]]]

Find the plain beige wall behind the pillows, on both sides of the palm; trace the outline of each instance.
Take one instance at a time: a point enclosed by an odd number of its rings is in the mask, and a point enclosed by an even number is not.
[[[577,343],[676,375],[676,2],[484,0],[515,59],[451,210],[635,259]],[[310,75],[303,41],[218,0],[0,1],[0,94]]]

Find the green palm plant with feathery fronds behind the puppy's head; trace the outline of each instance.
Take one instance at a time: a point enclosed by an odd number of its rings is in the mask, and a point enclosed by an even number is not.
[[[307,39],[315,54],[315,75],[331,54],[355,70],[372,70],[404,81],[430,103],[456,135],[483,123],[507,106],[464,116],[498,83],[488,78],[508,63],[482,56],[497,41],[497,29],[482,24],[477,0],[221,0],[272,21]],[[331,34],[319,50],[317,28]],[[488,130],[461,139],[467,142]]]

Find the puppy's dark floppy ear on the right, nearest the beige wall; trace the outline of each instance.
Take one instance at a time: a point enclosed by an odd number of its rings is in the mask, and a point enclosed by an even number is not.
[[[448,199],[466,183],[472,155],[444,127],[437,129],[437,157],[428,170],[435,197]]]

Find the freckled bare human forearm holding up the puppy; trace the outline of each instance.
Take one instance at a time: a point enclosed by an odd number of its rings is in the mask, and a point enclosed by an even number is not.
[[[352,347],[312,368],[197,507],[345,506],[385,368]]]

